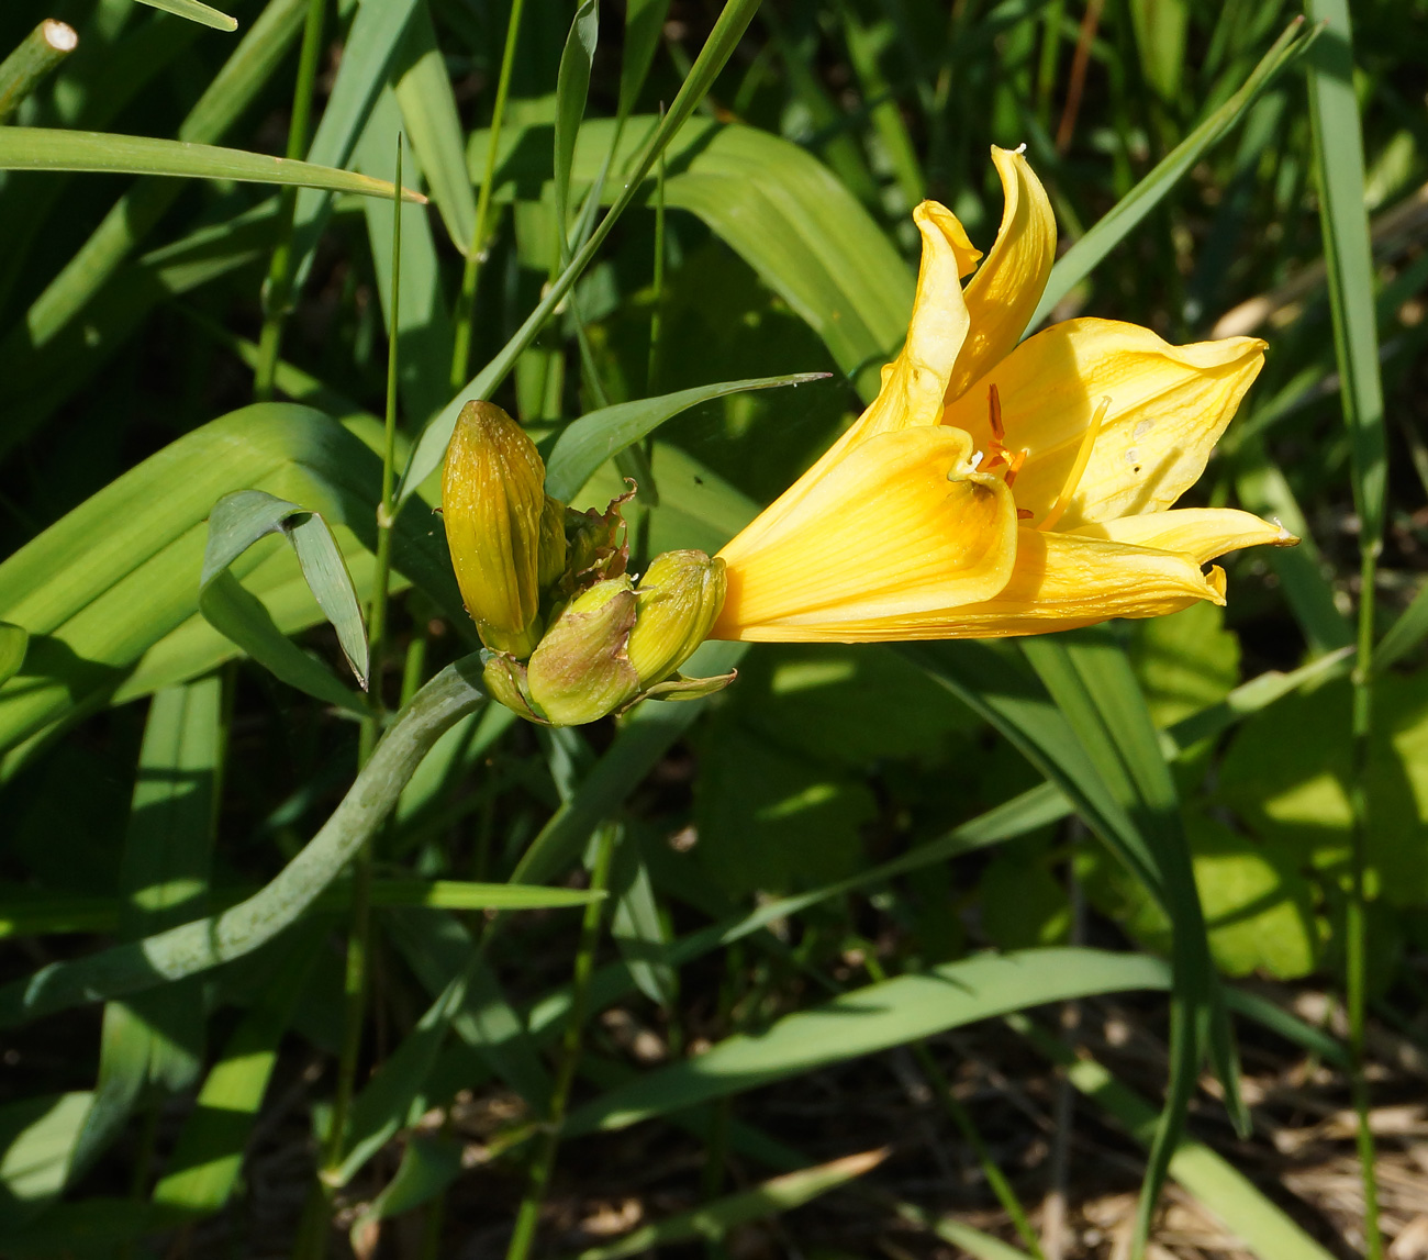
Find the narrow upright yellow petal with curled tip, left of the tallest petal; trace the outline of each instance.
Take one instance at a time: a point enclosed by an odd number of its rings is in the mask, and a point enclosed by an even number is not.
[[[941,419],[947,379],[967,337],[961,277],[971,271],[981,253],[972,249],[957,216],[937,201],[922,201],[912,211],[912,221],[922,234],[922,263],[917,273],[912,321],[901,353],[883,369],[883,387],[863,416],[750,526],[750,531],[763,531],[793,511],[850,450],[874,434],[932,426]]]

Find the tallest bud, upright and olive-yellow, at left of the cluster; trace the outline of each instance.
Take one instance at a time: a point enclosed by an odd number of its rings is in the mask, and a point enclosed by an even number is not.
[[[441,511],[456,580],[481,641],[517,659],[530,656],[540,640],[540,574],[554,553],[553,540],[543,546],[545,466],[493,403],[467,403],[457,417]],[[564,564],[563,530],[560,550]]]

